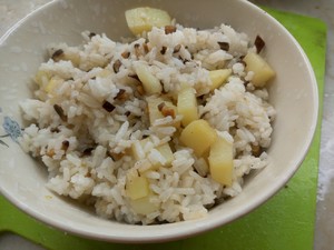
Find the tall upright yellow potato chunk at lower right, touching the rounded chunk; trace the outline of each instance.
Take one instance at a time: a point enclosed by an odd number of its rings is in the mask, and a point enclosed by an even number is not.
[[[208,162],[212,178],[220,184],[230,186],[233,178],[233,143],[218,137],[210,147]]]

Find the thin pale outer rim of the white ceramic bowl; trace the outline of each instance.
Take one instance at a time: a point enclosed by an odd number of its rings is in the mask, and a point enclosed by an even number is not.
[[[28,213],[29,216],[36,218],[39,221],[42,221],[47,224],[50,224],[59,230],[70,232],[76,236],[89,238],[89,239],[95,239],[95,240],[102,240],[102,241],[110,241],[110,242],[127,242],[127,243],[148,243],[148,242],[165,242],[165,241],[171,241],[171,240],[177,240],[177,239],[184,239],[184,238],[189,238],[199,233],[203,233],[208,230],[213,230],[215,228],[225,226],[227,223],[230,223],[232,221],[235,221],[236,219],[239,219],[244,217],[245,214],[252,212],[254,209],[259,207],[261,204],[265,203],[268,199],[271,199],[275,193],[277,193],[282,187],[294,176],[294,173],[298,170],[299,166],[302,164],[303,160],[305,159],[308,149],[312,144],[316,128],[317,128],[317,122],[318,122],[318,89],[317,89],[317,81],[316,77],[314,73],[314,70],[312,68],[312,64],[304,52],[303,48],[301,44],[296,41],[296,39],[287,31],[287,29],[279,23],[274,17],[272,17],[269,13],[267,13],[265,10],[261,9],[258,6],[248,2],[246,0],[238,0],[239,2],[243,2],[243,4],[247,4],[247,8],[250,8],[255,11],[261,11],[265,13],[266,18],[269,19],[275,26],[278,26],[281,31],[284,32],[285,36],[289,38],[289,40],[293,41],[294,46],[297,48],[299,54],[303,57],[308,77],[312,82],[312,89],[313,89],[313,94],[314,94],[314,113],[312,117],[312,124],[310,127],[307,138],[305,139],[305,144],[303,149],[301,150],[301,154],[295,157],[295,161],[292,163],[294,168],[291,168],[288,171],[286,171],[286,174],[282,180],[275,182],[268,189],[268,191],[263,192],[262,196],[258,196],[257,199],[253,200],[249,206],[246,208],[243,208],[240,210],[237,210],[234,212],[230,217],[227,218],[205,218],[205,219],[199,219],[196,221],[181,221],[181,222],[176,222],[180,227],[181,230],[167,230],[164,231],[164,233],[153,233],[153,234],[144,234],[141,232],[134,234],[124,234],[124,233],[117,233],[117,234],[109,234],[109,233],[101,233],[101,232],[96,232],[96,231],[88,231],[84,230],[77,227],[69,226],[65,223],[63,221],[57,221],[53,218],[48,218],[43,213],[40,213],[39,211],[36,211],[28,207],[22,200],[18,199],[17,197],[13,197],[8,192],[6,189],[3,189],[0,184],[0,192],[3,194],[11,203],[13,203],[17,208],[19,208],[21,211],[24,213]],[[10,29],[7,30],[7,32],[0,38],[0,46],[6,42],[8,37],[10,37],[17,29],[20,28],[22,23],[28,21],[30,18],[32,18],[36,13],[50,8],[53,4],[57,4],[59,0],[52,0],[39,8],[37,8],[35,11],[30,12],[27,14],[24,18],[19,20],[16,24],[13,24]],[[174,223],[166,224],[166,228],[171,227]],[[191,224],[190,227],[188,224]],[[194,226],[196,224],[196,226]],[[130,226],[126,224],[126,227],[139,227],[143,229],[143,227],[155,227],[155,226]],[[141,230],[139,230],[141,231]]]

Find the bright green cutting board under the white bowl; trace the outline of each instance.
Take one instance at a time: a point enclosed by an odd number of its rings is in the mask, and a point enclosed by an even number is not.
[[[306,51],[323,100],[326,26],[310,17],[266,9]],[[322,118],[322,104],[320,106]],[[50,228],[14,208],[0,196],[0,232],[12,231],[53,250],[96,249],[232,249],[312,250],[316,209],[321,119],[311,150],[293,179],[275,197],[242,219],[195,238],[160,244],[119,244],[70,236]]]

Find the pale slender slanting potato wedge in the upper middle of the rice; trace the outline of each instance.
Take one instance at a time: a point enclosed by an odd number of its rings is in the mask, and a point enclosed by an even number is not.
[[[163,87],[158,78],[156,78],[150,71],[149,66],[141,62],[135,64],[135,71],[143,83],[144,90],[148,94],[161,93]]]

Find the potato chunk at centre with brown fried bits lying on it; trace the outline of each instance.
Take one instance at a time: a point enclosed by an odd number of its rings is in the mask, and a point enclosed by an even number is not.
[[[159,104],[161,104],[161,103],[164,103],[167,108],[169,108],[173,111],[174,116],[177,114],[177,108],[171,103],[171,101],[166,101],[163,98],[154,97],[154,96],[146,98],[146,101],[147,101],[147,106],[148,106],[149,123],[151,126],[154,124],[154,122],[156,120],[165,117],[164,112],[161,112],[158,108]],[[176,122],[174,126],[179,127],[179,122]]]

